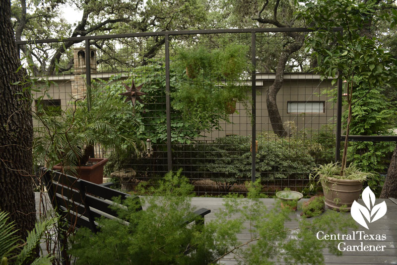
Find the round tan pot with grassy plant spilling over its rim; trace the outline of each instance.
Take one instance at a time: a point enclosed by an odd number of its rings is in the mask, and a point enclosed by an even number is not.
[[[362,172],[354,164],[350,164],[340,174],[340,163],[319,165],[314,168],[309,178],[317,180],[323,186],[325,204],[331,209],[340,210],[341,207],[350,211],[354,200],[360,197],[363,188],[362,182],[374,174]]]

